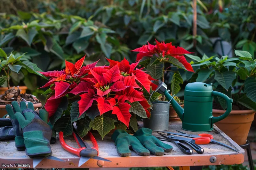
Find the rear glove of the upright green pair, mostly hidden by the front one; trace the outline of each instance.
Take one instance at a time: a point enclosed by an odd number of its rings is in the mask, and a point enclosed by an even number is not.
[[[28,106],[28,108],[31,108],[34,109],[34,106],[32,104]],[[15,132],[15,146],[17,148],[18,151],[25,151],[25,144],[24,144],[24,138],[23,138],[23,134],[21,132],[21,128],[20,128],[20,124],[16,118],[16,115],[15,113],[16,112],[22,112],[24,109],[27,109],[27,105],[25,102],[20,102],[20,106],[18,104],[17,101],[13,101],[12,102],[12,105],[8,104],[5,106],[5,109],[8,113],[8,115],[10,116],[11,120],[12,120],[12,127],[13,127],[13,130]]]

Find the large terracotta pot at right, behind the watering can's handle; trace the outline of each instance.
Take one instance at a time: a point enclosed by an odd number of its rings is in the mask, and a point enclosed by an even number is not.
[[[225,110],[212,109],[213,116],[220,116]],[[237,144],[243,145],[254,119],[254,110],[232,110],[228,117],[216,122],[215,125],[226,133]]]

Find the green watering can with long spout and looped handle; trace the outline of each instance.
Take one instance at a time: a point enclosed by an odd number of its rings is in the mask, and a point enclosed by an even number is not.
[[[194,132],[208,132],[213,130],[212,124],[229,115],[232,110],[233,99],[226,94],[212,90],[212,84],[202,82],[188,83],[184,93],[184,109],[167,90],[167,85],[162,82],[158,85],[156,92],[164,93],[168,101],[171,100],[172,107],[182,121],[182,129]],[[227,111],[218,117],[212,116],[213,96],[223,98],[227,103]]]

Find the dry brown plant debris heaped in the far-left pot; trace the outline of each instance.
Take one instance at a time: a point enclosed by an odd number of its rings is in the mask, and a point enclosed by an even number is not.
[[[19,104],[21,101],[25,101],[26,103],[32,102],[33,104],[40,103],[36,96],[32,94],[20,94],[19,87],[18,89],[13,87],[0,95],[0,105],[10,104],[12,101],[17,101]]]

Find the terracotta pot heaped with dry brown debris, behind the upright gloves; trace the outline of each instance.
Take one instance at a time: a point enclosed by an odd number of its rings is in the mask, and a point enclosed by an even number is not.
[[[5,105],[11,104],[12,101],[17,101],[19,104],[21,101],[25,101],[26,103],[32,102],[34,108],[38,108],[42,106],[42,103],[36,98],[36,96],[32,94],[20,94],[20,89],[15,89],[14,87],[6,90],[4,94],[0,95],[0,117],[3,117],[7,114],[5,110]]]

